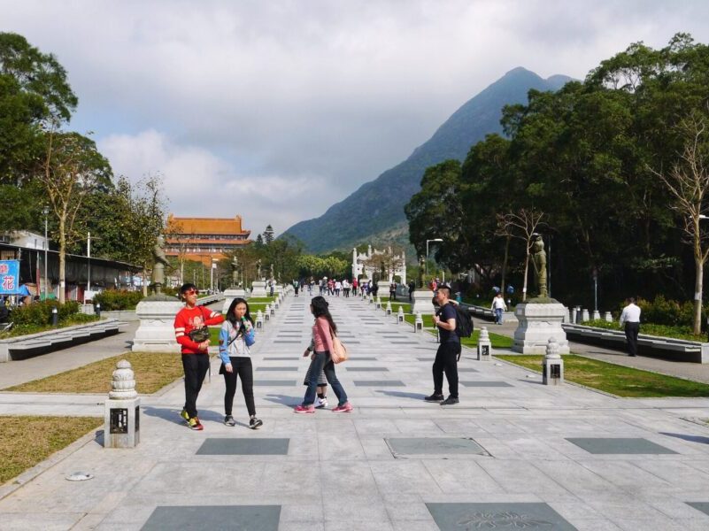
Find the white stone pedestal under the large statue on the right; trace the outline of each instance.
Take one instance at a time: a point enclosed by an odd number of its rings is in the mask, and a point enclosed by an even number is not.
[[[556,301],[517,304],[514,315],[519,325],[514,331],[512,350],[522,354],[546,354],[547,344],[553,338],[559,344],[559,354],[569,353],[566,332],[561,327],[566,315],[564,304]]]

